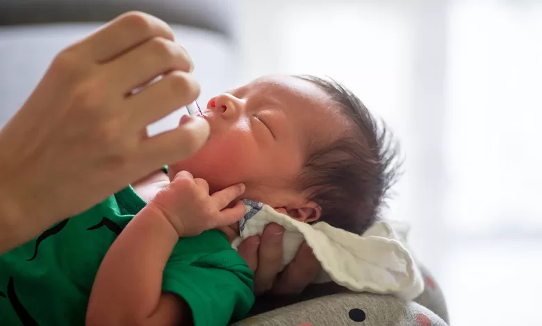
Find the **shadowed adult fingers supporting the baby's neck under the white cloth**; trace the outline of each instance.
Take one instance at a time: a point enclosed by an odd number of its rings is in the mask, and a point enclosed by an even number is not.
[[[281,270],[284,228],[275,223],[265,227],[261,237],[248,237],[239,244],[238,252],[254,271],[254,292],[271,291],[279,295],[301,293],[320,272],[320,263],[306,243],[294,260]]]

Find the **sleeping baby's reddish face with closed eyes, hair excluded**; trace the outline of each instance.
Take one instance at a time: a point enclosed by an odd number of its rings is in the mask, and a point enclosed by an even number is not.
[[[206,144],[188,160],[170,164],[170,178],[190,171],[212,191],[243,182],[243,198],[272,207],[306,200],[292,187],[311,142],[322,144],[343,132],[331,98],[293,76],[270,76],[211,98],[203,111],[211,127]]]

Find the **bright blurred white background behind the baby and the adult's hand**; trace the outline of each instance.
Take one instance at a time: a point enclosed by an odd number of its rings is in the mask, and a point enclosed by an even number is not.
[[[24,23],[27,1],[15,2],[20,10],[0,10],[1,23]],[[44,2],[61,9],[53,16],[91,18],[108,3]],[[132,2],[176,24],[174,3],[186,1]],[[211,33],[175,27],[201,76],[202,103],[265,74],[344,83],[402,143],[405,174],[386,217],[412,224],[411,244],[443,287],[451,324],[542,325],[542,1],[189,2],[236,17],[208,10],[198,22]],[[33,19],[51,20],[33,8]],[[179,15],[189,21],[190,7]],[[0,31],[0,83],[17,89],[0,87],[1,124],[54,54],[95,27],[83,22],[62,37],[55,26]]]

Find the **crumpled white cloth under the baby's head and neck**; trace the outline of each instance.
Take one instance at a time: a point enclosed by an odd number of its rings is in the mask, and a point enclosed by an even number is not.
[[[404,243],[409,232],[405,223],[397,225],[397,233],[390,222],[378,221],[359,236],[325,222],[302,223],[269,205],[245,200],[240,237],[232,247],[237,249],[243,239],[261,234],[271,222],[285,230],[283,267],[306,241],[322,265],[316,282],[333,280],[352,291],[392,294],[404,300],[412,300],[423,291],[422,275]]]

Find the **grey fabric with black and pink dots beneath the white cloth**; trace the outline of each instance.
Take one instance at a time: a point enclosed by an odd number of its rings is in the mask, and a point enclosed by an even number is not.
[[[337,286],[320,286],[306,300],[286,307],[263,312],[233,324],[241,325],[294,325],[309,321],[319,325],[364,325],[364,326],[445,326],[449,322],[443,293],[427,269],[419,265],[425,289],[414,302],[404,302],[391,295],[371,293],[338,293]],[[307,293],[308,291],[304,291]],[[314,294],[320,292],[319,298]],[[291,297],[275,297],[275,302],[288,304]],[[313,298],[307,300],[307,298]],[[269,300],[269,299],[268,299]],[[288,300],[288,301],[286,301]],[[262,301],[258,298],[258,301]]]

